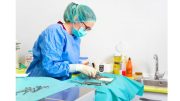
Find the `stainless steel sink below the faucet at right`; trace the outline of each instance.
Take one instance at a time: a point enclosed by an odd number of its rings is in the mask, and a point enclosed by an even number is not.
[[[142,81],[141,80],[137,80],[137,81],[148,86],[168,87],[167,80],[163,80],[163,79],[162,80],[143,79]]]

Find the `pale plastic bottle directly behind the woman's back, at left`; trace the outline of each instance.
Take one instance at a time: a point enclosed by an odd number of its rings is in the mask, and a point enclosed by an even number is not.
[[[25,56],[25,63],[24,63],[27,68],[29,67],[32,60],[33,60],[32,50],[28,50],[28,53]]]

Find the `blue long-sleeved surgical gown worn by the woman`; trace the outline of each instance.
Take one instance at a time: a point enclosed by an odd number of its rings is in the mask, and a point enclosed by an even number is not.
[[[33,61],[26,73],[60,80],[70,78],[69,64],[80,63],[80,41],[80,38],[68,34],[61,24],[50,25],[35,42]]]

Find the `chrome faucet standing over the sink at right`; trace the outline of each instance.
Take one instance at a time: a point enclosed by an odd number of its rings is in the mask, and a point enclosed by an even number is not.
[[[155,80],[159,80],[160,78],[163,78],[165,72],[162,73],[162,74],[159,73],[159,63],[158,63],[159,60],[158,60],[158,55],[157,55],[157,54],[154,55],[154,59],[155,59],[155,67],[156,67],[154,79],[155,79]]]

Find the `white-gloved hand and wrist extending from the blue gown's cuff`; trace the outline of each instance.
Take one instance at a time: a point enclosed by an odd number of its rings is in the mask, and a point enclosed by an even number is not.
[[[95,77],[96,73],[97,73],[97,70],[94,69],[93,67],[83,65],[83,64],[77,64],[76,65],[76,71],[79,71],[79,72],[86,74],[90,77]]]

